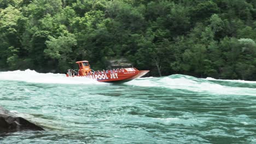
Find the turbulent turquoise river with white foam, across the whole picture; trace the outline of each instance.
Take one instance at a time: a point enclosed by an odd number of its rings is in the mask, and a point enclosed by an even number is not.
[[[0,105],[45,131],[0,143],[256,143],[256,82],[187,75],[101,83],[0,72]]]

